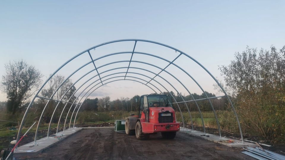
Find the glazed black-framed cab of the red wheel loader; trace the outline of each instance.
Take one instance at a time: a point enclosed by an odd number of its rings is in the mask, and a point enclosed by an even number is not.
[[[171,97],[168,95],[142,95],[139,104],[138,118],[144,118],[145,121],[149,121],[150,107],[172,107]]]

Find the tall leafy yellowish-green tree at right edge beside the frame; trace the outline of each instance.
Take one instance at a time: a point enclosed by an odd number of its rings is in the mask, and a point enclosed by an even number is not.
[[[285,46],[270,51],[247,47],[220,67],[248,132],[285,140]]]

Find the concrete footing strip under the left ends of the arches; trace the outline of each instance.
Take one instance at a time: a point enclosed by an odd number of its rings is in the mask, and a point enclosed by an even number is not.
[[[22,145],[18,147],[17,151],[14,151],[14,156],[32,156],[42,152],[44,149],[51,147],[52,145],[62,141],[64,138],[69,137],[83,128],[71,128],[64,132],[58,132],[56,136],[44,137],[37,140],[37,144],[34,142]]]

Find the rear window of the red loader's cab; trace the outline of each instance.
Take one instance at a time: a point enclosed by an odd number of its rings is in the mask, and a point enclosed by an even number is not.
[[[172,107],[171,98],[167,95],[148,95],[148,107]]]

